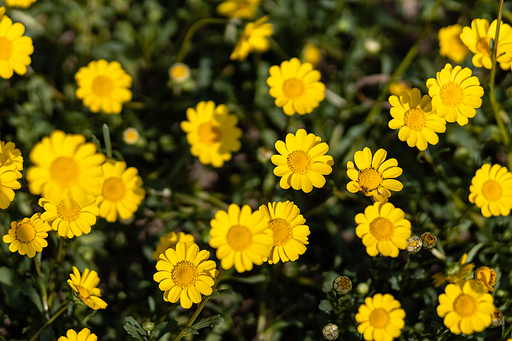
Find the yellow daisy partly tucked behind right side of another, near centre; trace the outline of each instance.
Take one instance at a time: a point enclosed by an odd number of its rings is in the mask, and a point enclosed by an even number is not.
[[[268,221],[274,237],[268,262],[274,264],[299,259],[309,244],[309,226],[304,225],[306,219],[297,205],[291,201],[273,202],[268,206],[261,205],[259,211]]]

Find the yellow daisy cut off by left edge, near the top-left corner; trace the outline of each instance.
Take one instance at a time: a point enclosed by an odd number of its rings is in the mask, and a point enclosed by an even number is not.
[[[27,73],[27,66],[34,53],[32,38],[24,36],[25,26],[12,23],[8,17],[0,21],[0,77],[9,79],[13,72],[18,75]]]

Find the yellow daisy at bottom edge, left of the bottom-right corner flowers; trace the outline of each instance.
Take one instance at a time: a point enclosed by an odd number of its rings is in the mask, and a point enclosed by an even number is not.
[[[405,327],[405,310],[390,294],[367,297],[359,307],[357,331],[366,341],[391,341],[402,334]]]

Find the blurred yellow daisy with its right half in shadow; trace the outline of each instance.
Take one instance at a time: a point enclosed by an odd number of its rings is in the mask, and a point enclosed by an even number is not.
[[[190,153],[201,163],[222,167],[231,153],[240,149],[238,117],[230,115],[224,104],[215,107],[213,101],[199,102],[195,109],[187,109],[187,119],[181,122],[181,129],[187,133]]]

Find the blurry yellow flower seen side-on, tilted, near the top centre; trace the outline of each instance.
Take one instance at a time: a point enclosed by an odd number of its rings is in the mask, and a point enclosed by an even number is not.
[[[238,40],[235,50],[229,57],[231,60],[238,59],[243,62],[247,55],[253,51],[265,52],[269,48],[268,37],[270,37],[274,30],[272,24],[265,23],[268,20],[268,15],[263,18],[248,23],[244,28],[244,33]]]

